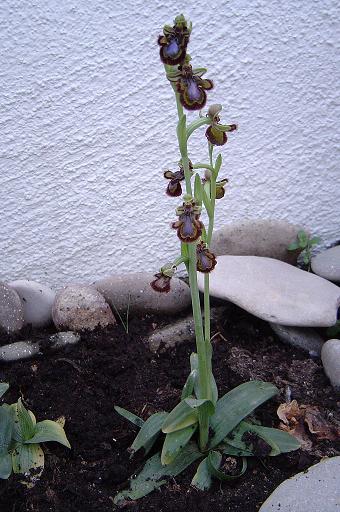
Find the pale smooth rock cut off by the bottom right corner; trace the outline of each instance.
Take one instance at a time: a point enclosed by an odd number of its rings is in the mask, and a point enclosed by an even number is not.
[[[259,512],[339,512],[340,457],[311,466],[282,482]]]

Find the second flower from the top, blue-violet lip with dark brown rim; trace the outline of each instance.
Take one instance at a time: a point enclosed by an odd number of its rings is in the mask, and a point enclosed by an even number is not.
[[[213,82],[202,78],[205,70],[193,70],[190,64],[183,64],[179,70],[176,87],[181,104],[187,110],[201,110],[207,101],[205,91],[213,88]]]

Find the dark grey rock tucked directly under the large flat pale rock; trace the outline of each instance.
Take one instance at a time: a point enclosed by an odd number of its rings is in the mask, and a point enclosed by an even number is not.
[[[288,325],[274,324],[272,322],[270,326],[284,343],[308,352],[311,357],[320,357],[324,341],[314,329],[309,327],[289,327]]]

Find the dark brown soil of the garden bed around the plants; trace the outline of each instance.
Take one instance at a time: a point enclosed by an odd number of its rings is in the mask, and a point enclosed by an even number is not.
[[[147,334],[166,319],[151,317],[130,322],[130,334],[120,327],[85,333],[78,346],[67,352],[46,353],[1,367],[0,381],[10,383],[8,403],[22,396],[38,421],[65,416],[72,450],[56,443],[44,445],[45,470],[37,485],[27,490],[19,478],[0,480],[1,512],[108,512],[112,497],[141,465],[130,460],[127,448],[136,429],[115,413],[114,404],[146,419],[151,413],[173,408],[189,372],[194,344],[171,352],[151,354],[144,344]],[[276,414],[287,392],[299,403],[320,407],[330,421],[339,421],[336,397],[320,361],[282,345],[269,326],[232,307],[213,334],[214,373],[220,395],[250,379],[273,382],[280,395],[257,411],[267,426],[278,426]],[[30,334],[30,336],[28,336]],[[17,339],[40,339],[48,333],[23,333]],[[8,340],[2,339],[1,343]],[[13,340],[14,341],[14,340]],[[194,464],[124,511],[255,512],[286,478],[340,454],[340,441],[313,439],[311,452],[298,450],[279,457],[254,458],[248,471],[232,483],[216,482],[208,493],[190,487]]]

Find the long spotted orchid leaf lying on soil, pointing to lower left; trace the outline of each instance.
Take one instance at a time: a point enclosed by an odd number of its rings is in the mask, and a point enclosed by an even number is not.
[[[122,504],[127,499],[143,498],[165,484],[169,477],[175,477],[182,473],[200,457],[202,454],[195,443],[189,443],[175,461],[167,466],[162,466],[160,454],[156,453],[146,462],[142,471],[130,480],[130,488],[117,494],[113,501],[114,504]]]

